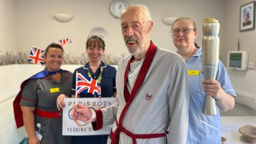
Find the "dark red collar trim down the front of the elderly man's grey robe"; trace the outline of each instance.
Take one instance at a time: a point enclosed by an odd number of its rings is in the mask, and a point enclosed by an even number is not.
[[[118,143],[119,142],[119,134],[121,132],[121,129],[122,129],[122,122],[123,122],[123,119],[124,119],[124,116],[125,116],[125,113],[127,111],[127,109],[129,108],[129,106],[131,105],[133,99],[135,98],[136,96],[136,93],[138,92],[138,90],[140,89],[140,86],[143,84],[144,82],[144,79],[147,75],[147,72],[148,72],[148,69],[151,65],[151,62],[153,61],[154,59],[154,56],[155,56],[155,53],[156,53],[156,50],[157,50],[157,47],[154,45],[154,43],[151,41],[150,42],[150,45],[149,45],[149,49],[146,53],[146,57],[145,57],[145,60],[143,61],[142,63],[142,66],[140,68],[140,72],[139,72],[139,75],[135,81],[135,84],[133,86],[133,89],[131,91],[131,94],[129,93],[128,89],[127,89],[127,86],[126,86],[126,81],[127,81],[127,77],[128,77],[128,71],[129,71],[129,68],[130,68],[130,64],[131,64],[131,61],[134,59],[134,57],[132,56],[132,58],[129,60],[128,64],[127,64],[127,67],[126,67],[126,70],[125,70],[125,73],[124,73],[124,99],[125,99],[125,102],[126,102],[126,105],[120,115],[120,118],[119,118],[119,123],[117,125],[117,129],[115,130],[114,134],[113,134],[113,139],[111,140],[111,144],[114,144],[114,143]]]

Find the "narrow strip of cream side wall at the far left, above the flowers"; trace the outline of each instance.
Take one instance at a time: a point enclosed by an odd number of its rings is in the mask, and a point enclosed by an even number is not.
[[[15,0],[0,1],[0,54],[17,51],[15,27]]]

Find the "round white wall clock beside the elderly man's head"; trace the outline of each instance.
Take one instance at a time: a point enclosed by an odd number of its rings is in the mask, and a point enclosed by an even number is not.
[[[121,12],[125,9],[125,7],[128,6],[125,1],[122,0],[116,0],[111,3],[110,5],[110,12],[114,15],[116,18],[120,18]]]

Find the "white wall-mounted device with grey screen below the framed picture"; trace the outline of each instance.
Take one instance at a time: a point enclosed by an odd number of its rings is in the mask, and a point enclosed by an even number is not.
[[[248,53],[246,51],[229,51],[228,68],[246,70],[248,66]]]

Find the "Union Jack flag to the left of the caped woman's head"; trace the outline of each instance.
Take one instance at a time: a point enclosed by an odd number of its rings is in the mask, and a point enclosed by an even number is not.
[[[36,64],[44,64],[44,51],[38,47],[32,46],[28,61]]]

